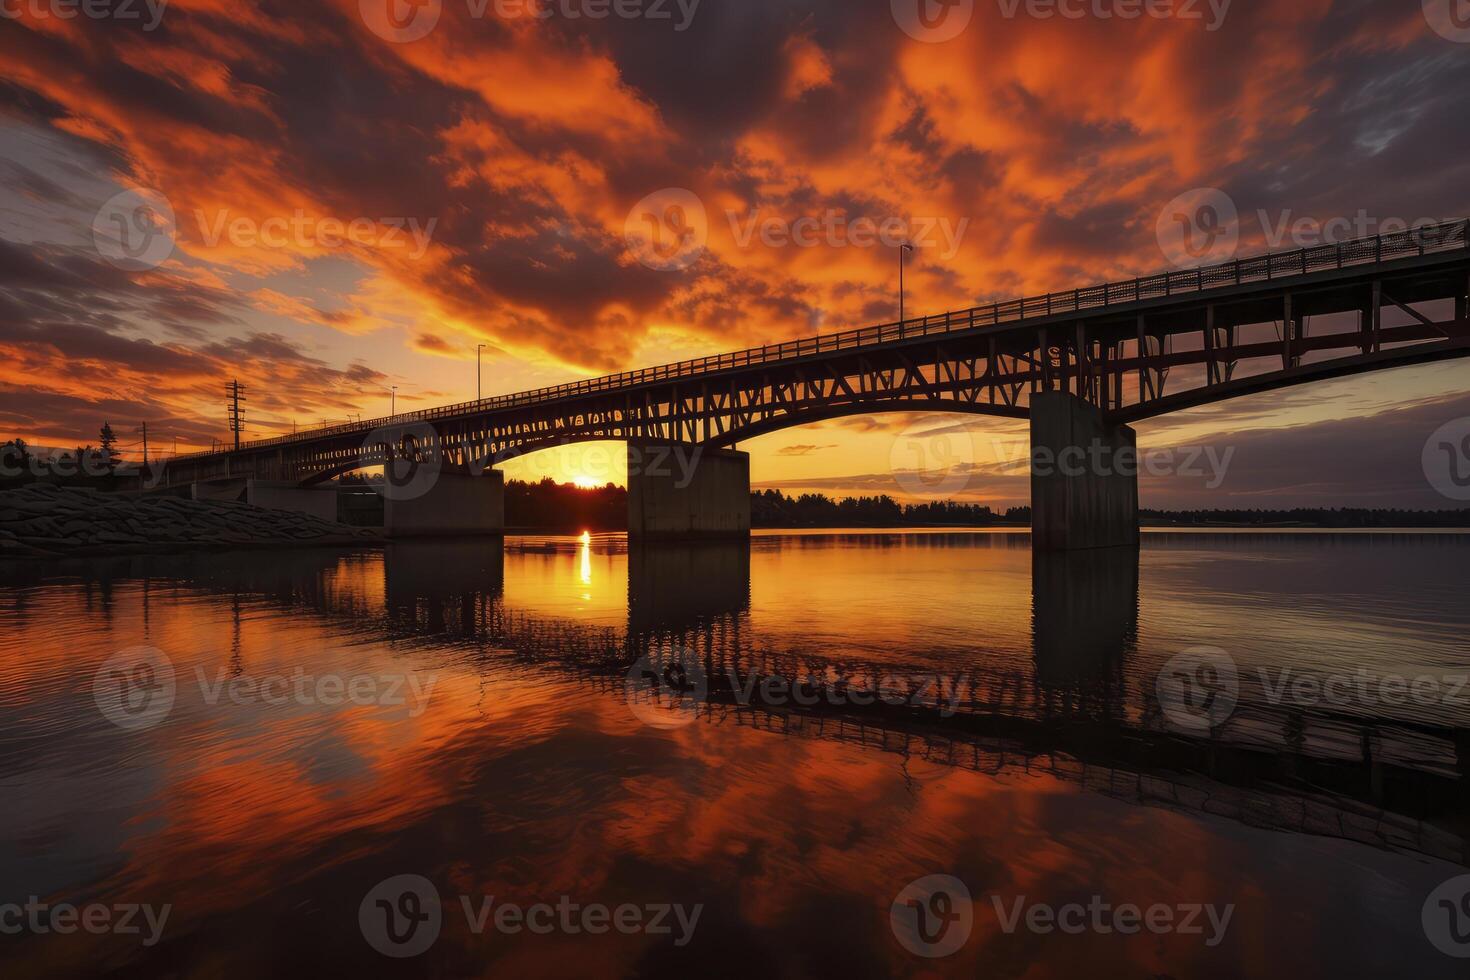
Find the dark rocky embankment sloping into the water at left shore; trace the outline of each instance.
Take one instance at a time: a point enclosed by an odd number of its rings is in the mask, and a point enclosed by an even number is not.
[[[101,494],[32,483],[0,491],[0,558],[338,545],[376,532],[225,501]]]

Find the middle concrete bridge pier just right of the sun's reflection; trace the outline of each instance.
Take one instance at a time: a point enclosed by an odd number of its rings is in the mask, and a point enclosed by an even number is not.
[[[631,538],[750,533],[750,454],[682,442],[628,444]]]

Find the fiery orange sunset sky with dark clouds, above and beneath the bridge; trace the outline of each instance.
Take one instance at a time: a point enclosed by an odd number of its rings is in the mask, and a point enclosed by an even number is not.
[[[922,314],[1167,267],[1158,216],[1197,188],[1235,204],[1241,254],[1299,217],[1351,237],[1470,212],[1470,29],[1448,0],[1135,19],[961,0],[944,41],[906,31],[906,0],[388,1],[6,0],[0,438],[94,442],[107,420],[131,442],[147,422],[182,451],[225,436],[231,378],[259,438],[385,416],[392,386],[400,411],[473,398],[479,344],[490,395],[897,314],[892,247],[767,219],[932,226],[907,275]],[[175,217],[143,267],[96,231],[129,190]],[[675,190],[707,242],[650,267],[628,231]],[[1145,478],[1144,504],[1455,505],[1419,458],[1470,416],[1467,370],[1144,423],[1144,447],[1233,448],[1219,488]],[[895,470],[936,430],[969,467],[947,495],[1025,502],[1025,423],[878,416],[741,448],[757,485],[922,497]],[[620,450],[507,470],[619,480]]]

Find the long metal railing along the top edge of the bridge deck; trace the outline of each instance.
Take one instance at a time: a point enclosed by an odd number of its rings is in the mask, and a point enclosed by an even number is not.
[[[629,388],[659,381],[678,378],[697,378],[732,367],[748,367],[766,363],[784,361],[795,357],[823,354],[832,351],[851,350],[856,347],[873,347],[910,338],[948,334],[954,331],[970,331],[980,326],[998,326],[1001,323],[1023,323],[1026,320],[1057,316],[1060,313],[1080,313],[1085,310],[1107,309],[1111,306],[1141,303],[1144,300],[1166,298],[1173,295],[1188,295],[1207,292],[1226,287],[1245,285],[1251,282],[1267,282],[1274,279],[1310,275],[1329,269],[1347,269],[1366,266],[1391,259],[1410,256],[1424,256],[1430,253],[1470,250],[1466,219],[1441,222],[1411,228],[1392,235],[1374,235],[1373,238],[1354,238],[1344,242],[1311,245],[1294,251],[1267,253],[1248,259],[1236,259],[1214,266],[1198,269],[1180,269],[1161,272],[1152,276],[1126,279],[1120,282],[1104,282],[1101,285],[1083,287],[1078,289],[1063,289],[1025,300],[1007,300],[988,306],[970,307],[948,313],[935,313],[911,320],[895,323],[881,323],[864,326],[841,334],[823,334],[817,336],[803,336],[782,344],[764,344],[742,351],[728,354],[711,354],[695,357],[673,364],[657,367],[642,367],[617,375],[588,378],[585,381],[551,385],[509,395],[492,395],[479,401],[466,401],[422,411],[409,411],[387,419],[372,419],[368,422],[353,422],[323,429],[310,429],[293,435],[275,436],[270,439],[256,439],[241,445],[241,450],[263,450],[294,442],[315,442],[335,435],[356,435],[388,425],[406,425],[413,422],[434,422],[454,416],[472,414],[478,411],[497,411],[501,408],[519,408],[545,401],[575,398],[603,391]],[[218,453],[193,453],[176,455],[173,461],[190,460]]]

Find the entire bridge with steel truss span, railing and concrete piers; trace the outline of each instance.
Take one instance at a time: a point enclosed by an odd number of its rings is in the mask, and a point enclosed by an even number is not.
[[[391,536],[494,533],[497,463],[623,441],[631,535],[739,535],[744,439],[856,414],[954,411],[1029,419],[1033,458],[1102,447],[1122,460],[1136,454],[1129,423],[1142,419],[1464,357],[1467,295],[1460,219],[259,439],[171,458],[159,480],[318,510],[318,485],[384,467]],[[1076,469],[1033,467],[1035,547],[1136,542],[1136,467]]]

